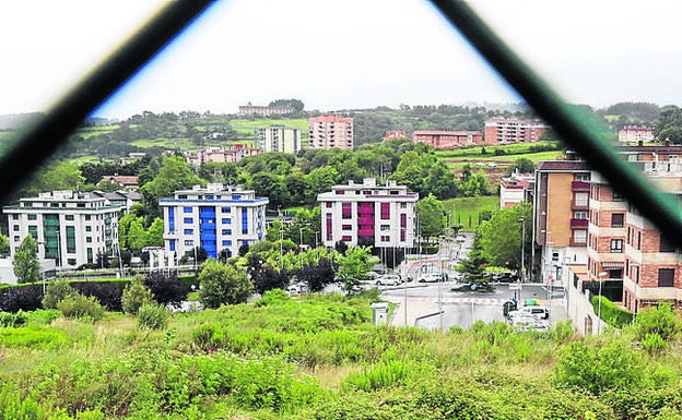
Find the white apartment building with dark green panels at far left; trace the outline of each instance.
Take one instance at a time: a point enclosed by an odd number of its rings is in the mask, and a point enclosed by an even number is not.
[[[38,259],[55,260],[58,268],[96,263],[98,255],[118,255],[118,216],[122,207],[107,199],[73,191],[51,191],[4,206],[12,257],[31,235]]]

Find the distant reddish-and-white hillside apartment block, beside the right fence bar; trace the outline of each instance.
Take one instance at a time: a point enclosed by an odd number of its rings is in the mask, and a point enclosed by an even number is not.
[[[548,129],[540,120],[491,118],[485,121],[485,145],[536,143]]]

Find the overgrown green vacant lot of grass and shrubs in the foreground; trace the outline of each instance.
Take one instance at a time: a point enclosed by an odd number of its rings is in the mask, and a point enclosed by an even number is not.
[[[4,314],[3,419],[679,419],[680,319],[601,337],[371,325],[376,296],[134,317]],[[637,345],[633,345],[636,343]]]

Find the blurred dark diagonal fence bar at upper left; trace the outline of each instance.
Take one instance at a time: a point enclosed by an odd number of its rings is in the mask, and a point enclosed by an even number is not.
[[[168,1],[144,26],[26,129],[0,157],[0,196],[7,200],[109,95],[140,70],[207,7],[209,0]],[[86,35],[85,35],[86,36]]]

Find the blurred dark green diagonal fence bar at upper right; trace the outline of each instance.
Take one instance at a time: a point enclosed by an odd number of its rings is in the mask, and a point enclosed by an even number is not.
[[[432,0],[432,3],[568,146],[599,170],[669,241],[682,247],[682,219],[673,196],[660,192],[642,172],[623,161],[615,148],[590,130],[466,2]]]

